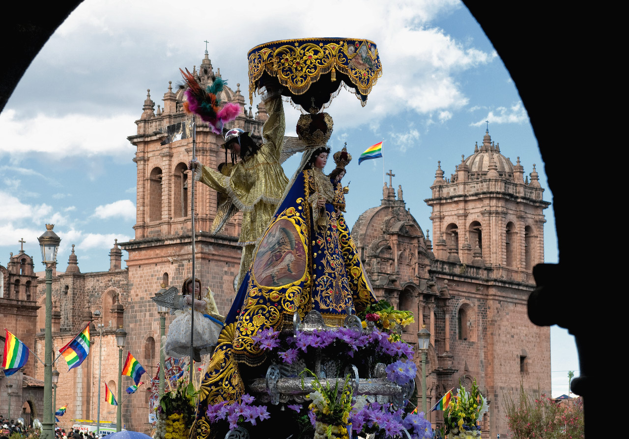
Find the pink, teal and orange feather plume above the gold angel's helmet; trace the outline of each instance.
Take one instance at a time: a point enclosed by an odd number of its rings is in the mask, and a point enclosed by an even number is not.
[[[187,102],[184,102],[184,111],[186,113],[198,114],[203,121],[206,121],[211,126],[214,133],[222,134],[223,125],[233,121],[240,114],[240,105],[238,104],[226,103],[221,106],[218,94],[223,91],[227,81],[217,77],[211,86],[203,89],[188,69],[186,69],[186,72],[181,69],[179,71],[184,77],[184,84],[182,85],[184,87],[187,86]]]

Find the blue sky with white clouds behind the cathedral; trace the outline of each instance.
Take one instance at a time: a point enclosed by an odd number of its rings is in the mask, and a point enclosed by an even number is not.
[[[179,67],[199,65],[208,40],[214,70],[247,93],[247,51],[282,38],[350,36],[376,42],[383,75],[367,106],[342,92],[328,109],[333,150],[347,142],[358,157],[384,139],[404,200],[424,231],[437,160],[446,176],[481,142],[485,120],[501,152],[525,173],[543,162],[526,109],[508,72],[476,20],[459,1],[319,1],[308,13],[294,2],[213,3],[92,1],[77,8],[26,71],[0,114],[0,264],[18,240],[39,259],[36,238],[55,223],[62,237],[59,269],[76,245],[82,272],[106,270],[114,238],[133,238],[135,133],[146,90],[155,104]],[[360,5],[358,7],[357,5]],[[248,13],[254,10],[255,14]],[[197,11],[197,14],[194,13]],[[189,19],[187,16],[194,16]],[[220,18],[218,18],[220,17]],[[254,98],[255,99],[255,98]],[[254,105],[258,101],[256,100]],[[287,135],[299,113],[285,106]],[[292,175],[297,158],[285,164]],[[380,203],[383,160],[348,168],[348,223]],[[388,180],[388,178],[387,178]],[[552,201],[550,191],[544,198]],[[557,262],[552,208],[546,211],[545,257]],[[432,236],[432,234],[430,233]],[[567,393],[567,370],[579,375],[574,339],[552,328],[552,394]],[[555,372],[556,371],[556,372]]]

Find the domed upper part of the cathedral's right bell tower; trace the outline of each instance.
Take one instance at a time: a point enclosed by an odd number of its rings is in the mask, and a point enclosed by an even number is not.
[[[443,177],[441,162],[430,187],[435,257],[492,269],[492,277],[533,284],[533,266],[544,260],[544,189],[533,165],[524,178],[485,132],[482,145]]]

